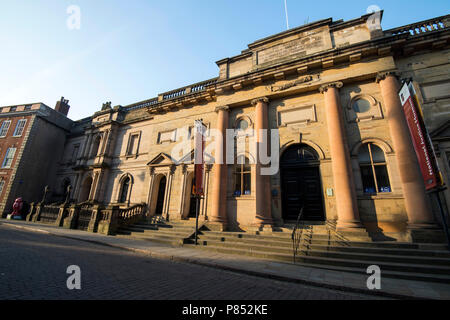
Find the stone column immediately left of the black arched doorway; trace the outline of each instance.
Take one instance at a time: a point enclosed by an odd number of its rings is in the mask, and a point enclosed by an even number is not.
[[[252,101],[255,106],[255,134],[256,134],[256,164],[255,164],[255,198],[256,198],[256,215],[255,225],[263,227],[265,225],[273,225],[271,210],[271,194],[270,194],[270,176],[262,175],[261,169],[264,165],[261,163],[260,153],[268,155],[269,147],[267,130],[269,129],[268,102],[266,97],[258,98]],[[266,131],[263,131],[266,130]],[[265,142],[265,143],[263,143]],[[263,148],[265,150],[263,150]]]

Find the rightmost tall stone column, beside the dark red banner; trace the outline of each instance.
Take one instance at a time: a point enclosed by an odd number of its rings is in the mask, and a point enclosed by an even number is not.
[[[400,84],[394,72],[379,73],[377,82],[387,111],[386,118],[402,182],[408,227],[434,228],[435,221],[425,193],[425,183],[398,96]]]

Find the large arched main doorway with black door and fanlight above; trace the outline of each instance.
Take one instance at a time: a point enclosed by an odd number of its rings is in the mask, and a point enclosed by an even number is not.
[[[304,208],[304,221],[325,221],[319,155],[310,146],[296,144],[280,160],[283,219],[296,220]]]

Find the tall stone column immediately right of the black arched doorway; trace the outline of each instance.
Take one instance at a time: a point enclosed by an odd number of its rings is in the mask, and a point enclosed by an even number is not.
[[[342,117],[343,110],[339,98],[339,88],[342,88],[342,86],[342,82],[325,84],[320,87],[320,92],[325,97],[331,166],[338,214],[337,229],[345,231],[362,228],[362,225],[359,219],[355,182]]]

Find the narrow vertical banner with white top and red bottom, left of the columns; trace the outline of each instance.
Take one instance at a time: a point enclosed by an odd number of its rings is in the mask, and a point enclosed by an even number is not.
[[[204,132],[205,126],[201,120],[195,120],[194,123],[194,194],[197,196],[204,195],[203,172],[205,162],[203,158],[203,150],[205,149]]]

